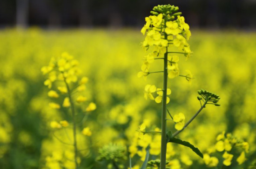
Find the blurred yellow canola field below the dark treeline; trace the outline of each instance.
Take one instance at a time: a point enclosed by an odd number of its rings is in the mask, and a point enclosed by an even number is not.
[[[200,107],[196,97],[201,88],[219,94],[221,106],[207,105],[179,135],[201,150],[204,159],[186,147],[168,143],[168,166],[256,169],[256,33],[191,33],[193,55],[188,61],[181,55],[179,67],[180,74],[188,69],[195,78],[191,83],[184,77],[168,81],[168,110],[182,112],[189,120]],[[88,101],[76,103],[81,106],[77,115],[80,168],[128,169],[131,156],[132,169],[140,169],[148,146],[149,159],[159,159],[161,135],[147,133],[140,139],[136,131],[142,123],[151,130],[161,128],[162,105],[145,100],[144,87],[161,87],[162,76],[137,77],[146,55],[143,39],[140,30],[1,30],[0,169],[74,169],[72,128],[53,123],[71,123],[69,111],[49,106],[53,99],[47,96],[46,76],[41,72],[51,57],[63,52],[74,56],[81,77],[88,77],[84,91]],[[157,62],[151,69],[162,69],[162,62]],[[96,109],[84,113],[91,101]],[[175,131],[172,121],[168,130]],[[231,149],[225,138],[243,144]],[[229,166],[223,165],[229,158],[223,156],[225,150],[233,155]]]

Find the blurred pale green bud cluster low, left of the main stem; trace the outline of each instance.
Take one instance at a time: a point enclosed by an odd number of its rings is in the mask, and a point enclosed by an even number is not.
[[[97,161],[107,160],[113,162],[120,162],[126,160],[126,147],[120,144],[110,143],[104,145],[99,150],[100,156],[97,157]]]

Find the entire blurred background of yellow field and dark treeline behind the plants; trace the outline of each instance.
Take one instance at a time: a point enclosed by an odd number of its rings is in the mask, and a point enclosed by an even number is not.
[[[142,122],[147,130],[161,127],[161,104],[145,100],[143,90],[146,84],[161,88],[162,77],[137,77],[147,55],[140,29],[158,4],[179,6],[192,33],[193,56],[185,61],[180,55],[179,67],[195,79],[191,84],[182,77],[169,79],[170,113],[182,112],[188,120],[200,107],[200,88],[221,96],[221,106],[207,106],[179,138],[216,156],[220,169],[224,151],[214,151],[216,137],[232,133],[249,143],[248,160],[238,165],[236,147],[232,164],[223,168],[255,169],[256,0],[0,0],[0,169],[74,169],[72,146],[54,137],[71,143],[71,129],[50,127],[54,120],[70,122],[68,110],[48,106],[58,100],[47,97],[40,71],[62,52],[79,61],[81,75],[89,78],[86,97],[97,105],[77,129],[81,168],[106,169],[107,162],[96,161],[99,149],[117,143],[127,149],[125,156],[135,153],[133,169],[139,169],[145,151],[131,147],[137,144],[135,130]],[[161,62],[153,64],[152,69],[162,69]],[[83,127],[90,127],[90,137],[81,136]],[[174,124],[168,129],[175,131]],[[150,159],[159,158],[160,144],[153,136]],[[169,145],[168,150],[174,169],[209,167],[187,148]],[[128,168],[128,159],[122,164]]]

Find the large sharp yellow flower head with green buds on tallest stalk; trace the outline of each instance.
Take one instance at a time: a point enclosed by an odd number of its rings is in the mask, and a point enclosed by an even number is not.
[[[146,37],[142,46],[146,50],[151,47],[152,50],[144,56],[144,62],[138,77],[143,76],[146,79],[149,74],[161,73],[162,71],[150,72],[150,64],[154,63],[156,59],[164,59],[166,53],[168,54],[168,77],[173,79],[180,75],[179,56],[177,54],[183,54],[188,59],[192,52],[188,43],[191,36],[189,25],[185,23],[184,17],[180,16],[181,13],[178,10],[178,7],[171,5],[155,6],[151,11],[152,15],[145,18],[146,24],[142,27],[141,33]],[[175,51],[168,52],[168,48],[175,49]],[[191,81],[193,75],[189,70],[186,70],[186,72],[187,75],[180,76],[185,77],[187,81]],[[152,93],[156,91],[156,88],[151,90],[152,88],[149,88],[148,85],[145,87],[145,98],[160,103],[162,100],[161,92],[159,92],[159,97],[155,99]]]

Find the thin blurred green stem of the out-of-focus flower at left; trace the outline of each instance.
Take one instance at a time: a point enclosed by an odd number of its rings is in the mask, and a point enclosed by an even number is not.
[[[75,125],[74,103],[73,103],[73,100],[71,98],[71,90],[70,90],[65,78],[64,78],[64,82],[65,82],[66,87],[67,87],[67,93],[68,93],[68,98],[69,98],[69,102],[70,102],[70,106],[71,106],[71,112],[72,112],[73,139],[74,139],[74,143],[73,143],[73,146],[74,146],[74,162],[75,162],[75,169],[78,169],[78,163],[77,163],[78,150],[77,150],[77,142],[76,142],[76,125]]]

